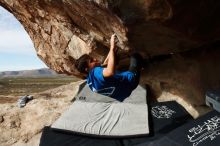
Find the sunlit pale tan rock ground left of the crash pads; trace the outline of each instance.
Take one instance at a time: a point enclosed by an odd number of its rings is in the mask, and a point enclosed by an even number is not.
[[[34,94],[24,108],[17,106],[17,97],[1,102],[0,146],[39,145],[42,128],[51,125],[68,108],[81,82]]]

